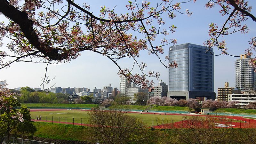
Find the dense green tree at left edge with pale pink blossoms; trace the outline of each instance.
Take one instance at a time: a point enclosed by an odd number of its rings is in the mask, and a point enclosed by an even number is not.
[[[30,122],[29,108],[22,106],[8,89],[0,89],[0,135],[32,136],[36,127]]]

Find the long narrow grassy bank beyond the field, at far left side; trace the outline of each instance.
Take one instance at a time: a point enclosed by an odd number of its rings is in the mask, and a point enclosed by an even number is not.
[[[93,108],[97,104],[61,104],[61,103],[22,103],[21,106],[29,108]]]

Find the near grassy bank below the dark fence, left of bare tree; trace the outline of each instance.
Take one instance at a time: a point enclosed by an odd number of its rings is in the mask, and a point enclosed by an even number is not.
[[[88,127],[65,124],[34,123],[36,132],[34,136],[60,140],[86,141],[90,135]]]

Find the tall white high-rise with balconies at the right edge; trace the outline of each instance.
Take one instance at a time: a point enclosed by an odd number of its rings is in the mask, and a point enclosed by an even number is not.
[[[240,88],[241,92],[249,92],[256,90],[256,73],[249,65],[251,56],[241,55],[240,59],[236,60],[236,79],[235,87]]]

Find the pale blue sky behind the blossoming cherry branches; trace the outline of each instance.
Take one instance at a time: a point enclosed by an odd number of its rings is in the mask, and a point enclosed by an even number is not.
[[[152,1],[151,3],[156,3],[156,1]],[[192,43],[203,45],[203,42],[209,39],[208,25],[214,22],[221,26],[225,20],[218,12],[220,10],[219,6],[215,6],[213,9],[206,9],[204,6],[205,3],[206,1],[198,1],[196,3],[190,2],[181,5],[182,12],[185,12],[187,8],[190,12],[193,12],[190,17],[178,13],[176,13],[177,17],[172,20],[165,17],[166,25],[173,24],[178,27],[176,32],[170,34],[167,38],[176,38],[178,40],[177,44]],[[115,12],[117,13],[128,12],[125,7],[125,5],[128,4],[126,0],[97,0],[89,1],[88,4],[91,7],[90,11],[93,12],[94,15],[99,14],[100,6],[102,5],[110,9],[116,6]],[[256,15],[256,1],[250,0],[249,5],[252,6],[251,13]],[[3,16],[1,16],[1,20],[2,18]],[[250,28],[248,34],[241,35],[241,33],[237,33],[224,38],[227,42],[228,52],[230,54],[240,55],[244,53],[244,50],[249,47],[248,41],[251,37],[255,36],[256,23],[249,19],[246,21],[246,24]],[[138,35],[138,37],[140,36]],[[155,43],[157,42],[156,39]],[[168,49],[168,46],[164,47],[163,57],[168,55]],[[214,52],[218,53],[216,49]],[[255,54],[255,52],[253,54]],[[218,87],[223,87],[226,81],[229,82],[229,86],[234,86],[235,59],[237,58],[225,55],[214,58],[215,92],[217,92]],[[139,60],[147,63],[147,70],[160,72],[160,79],[163,79],[163,81],[168,84],[168,69],[160,65],[159,61],[154,56],[148,55],[147,52],[141,52]],[[120,65],[124,68],[130,68],[132,64],[130,60],[121,60],[120,62]],[[9,88],[23,86],[39,87],[42,83],[41,77],[44,76],[44,70],[45,64],[16,62],[12,64],[11,68],[0,70],[0,80],[6,80],[9,84]],[[81,52],[81,56],[72,60],[70,63],[49,66],[49,76],[56,77],[50,85],[57,83],[56,86],[58,87],[84,86],[91,90],[94,86],[103,88],[103,86],[107,86],[108,84],[119,89],[119,76],[117,76],[117,72],[118,68],[110,60],[93,52]],[[155,83],[158,82],[155,78],[152,80]]]

